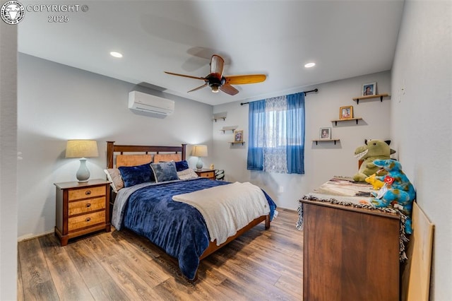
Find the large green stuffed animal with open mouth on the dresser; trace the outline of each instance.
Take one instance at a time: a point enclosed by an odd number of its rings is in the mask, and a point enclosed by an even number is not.
[[[379,167],[374,165],[374,160],[388,160],[391,159],[391,154],[396,153],[389,147],[391,141],[371,139],[364,143],[364,146],[358,146],[355,149],[355,158],[363,160],[358,173],[353,176],[353,180],[356,182],[366,182],[367,177],[379,171]],[[381,173],[377,173],[377,175],[381,175]]]

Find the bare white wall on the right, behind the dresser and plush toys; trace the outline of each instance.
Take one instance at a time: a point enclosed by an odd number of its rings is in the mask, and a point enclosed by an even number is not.
[[[435,225],[431,300],[452,296],[451,88],[452,1],[406,0],[392,72],[391,136],[417,203]]]

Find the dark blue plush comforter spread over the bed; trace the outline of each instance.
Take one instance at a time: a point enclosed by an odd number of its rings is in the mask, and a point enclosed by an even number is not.
[[[201,213],[186,203],[172,201],[172,196],[224,184],[230,182],[198,178],[140,188],[131,193],[125,203],[121,225],[147,237],[177,258],[184,276],[193,280],[199,256],[207,249],[210,237]],[[272,219],[276,205],[265,191],[264,194]]]

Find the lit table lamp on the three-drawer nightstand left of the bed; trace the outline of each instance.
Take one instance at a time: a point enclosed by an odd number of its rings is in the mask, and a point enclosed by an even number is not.
[[[76,177],[78,182],[88,182],[90,171],[86,167],[85,157],[98,157],[97,141],[95,140],[68,140],[66,145],[66,158],[81,158],[80,168]]]

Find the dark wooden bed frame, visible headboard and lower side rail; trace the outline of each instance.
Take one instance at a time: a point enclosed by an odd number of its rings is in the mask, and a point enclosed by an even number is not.
[[[107,168],[114,167],[114,154],[119,153],[124,155],[124,153],[180,153],[181,160],[186,160],[186,144],[182,144],[181,146],[133,146],[133,145],[118,145],[114,144],[114,141],[107,141]],[[113,194],[111,194],[113,195]],[[112,201],[110,202],[112,203]],[[110,210],[112,212],[112,210]],[[266,216],[259,216],[254,220],[251,220],[251,223],[246,225],[244,228],[237,231],[236,235],[229,237],[225,242],[217,246],[216,242],[210,242],[206,251],[201,254],[199,259],[206,258],[216,250],[224,247],[226,244],[232,242],[237,237],[242,235],[244,232],[254,228],[254,226],[265,220],[265,229],[268,230],[270,228],[270,214]]]

